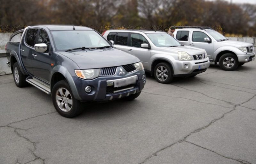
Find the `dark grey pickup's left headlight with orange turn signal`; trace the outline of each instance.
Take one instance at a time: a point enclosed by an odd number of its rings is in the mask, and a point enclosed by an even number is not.
[[[91,80],[100,75],[100,69],[75,70],[76,76],[82,79]]]

